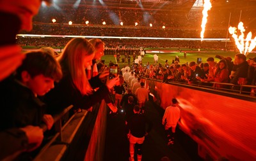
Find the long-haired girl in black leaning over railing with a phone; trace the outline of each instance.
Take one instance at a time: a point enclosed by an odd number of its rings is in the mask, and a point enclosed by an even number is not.
[[[118,77],[107,78],[106,83],[101,80],[108,77],[108,73],[98,74],[90,81],[86,77],[85,69],[92,66],[94,54],[95,48],[84,38],[74,38],[67,43],[57,59],[63,70],[63,79],[45,97],[45,101],[51,104],[51,113],[59,113],[71,104],[74,109],[88,109],[109,94]],[[99,89],[93,91],[97,87]]]

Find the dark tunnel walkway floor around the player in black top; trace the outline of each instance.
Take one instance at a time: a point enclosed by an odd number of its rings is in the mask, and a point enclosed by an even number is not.
[[[197,155],[195,142],[184,132],[177,129],[176,140],[173,146],[167,146],[167,140],[161,118],[164,110],[152,102],[146,103],[145,114],[152,121],[153,128],[143,144],[144,161],[160,161],[168,157],[172,161],[200,161]],[[129,141],[125,134],[124,115],[120,112],[117,115],[109,115],[106,132],[106,147],[104,161],[128,161]]]

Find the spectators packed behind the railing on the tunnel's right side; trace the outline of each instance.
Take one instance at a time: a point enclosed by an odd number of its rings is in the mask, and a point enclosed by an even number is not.
[[[253,85],[256,81],[256,57],[246,60],[243,54],[236,54],[234,61],[230,57],[222,57],[216,55],[219,62],[216,62],[213,57],[207,59],[207,63],[197,64],[189,62],[188,64],[179,64],[179,59],[169,63],[166,60],[165,64],[150,64],[147,62],[144,66],[135,64],[133,72],[139,76],[163,80],[163,82],[180,82],[193,85],[205,85],[216,88],[230,88],[221,83],[232,83],[233,85]],[[124,67],[125,68],[125,67]],[[124,68],[121,71],[124,73]],[[209,83],[211,82],[211,83]],[[215,82],[216,84],[212,83]],[[220,84],[218,84],[220,83]],[[237,90],[233,87],[232,90]],[[239,88],[238,88],[239,90]],[[255,88],[247,88],[246,92],[254,93]],[[254,95],[252,93],[252,95]]]

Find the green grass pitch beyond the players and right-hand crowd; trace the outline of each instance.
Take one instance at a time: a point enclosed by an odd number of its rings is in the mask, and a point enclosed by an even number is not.
[[[166,49],[164,49],[164,50],[166,50]],[[154,63],[153,55],[154,55],[154,53],[147,53],[144,56],[144,59],[142,59],[142,63],[146,64],[147,62],[149,62],[150,64],[153,64]],[[188,63],[192,62],[192,61],[196,62],[197,58],[202,58],[202,62],[206,62],[206,59],[208,57],[214,57],[215,61],[219,62],[220,59],[215,58],[216,55],[221,55],[223,57],[231,57],[234,60],[234,56],[236,55],[236,53],[235,52],[223,52],[223,51],[200,52],[199,53],[199,52],[193,51],[193,52],[187,52],[187,58],[186,59],[184,58],[183,52],[182,53],[173,52],[173,50],[170,51],[170,52],[166,52],[166,53],[157,53],[157,55],[158,55],[158,62],[160,64],[164,64],[165,60],[168,60],[168,64],[171,64],[172,60],[175,59],[176,55],[178,55],[178,57],[180,59],[180,64],[185,64],[186,62],[188,62]],[[121,55],[121,57],[122,57],[122,55]],[[248,54],[247,58],[251,58],[251,57],[256,57],[256,53]],[[114,63],[116,62],[115,57],[113,55],[104,55],[102,57],[102,60],[105,60],[106,64],[108,64],[110,62],[110,60]],[[132,61],[132,58],[131,58],[131,61]],[[119,64],[122,66],[122,65],[125,65],[127,63],[120,62]]]

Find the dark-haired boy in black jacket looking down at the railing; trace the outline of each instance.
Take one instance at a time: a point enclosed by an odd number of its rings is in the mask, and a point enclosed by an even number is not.
[[[30,52],[26,54],[16,73],[0,83],[0,130],[38,127],[42,122],[51,129],[54,120],[45,115],[45,104],[37,96],[45,95],[54,88],[54,81],[62,77],[60,64],[48,53]],[[40,141],[24,143],[24,151],[35,150]]]

